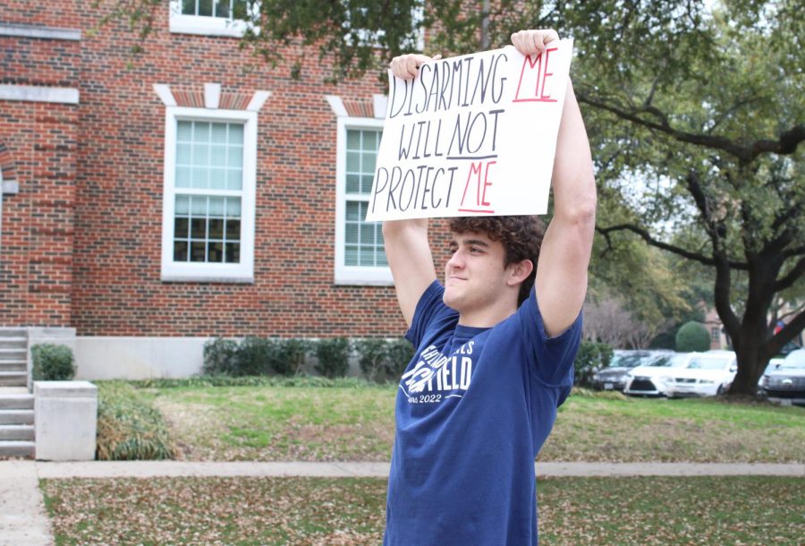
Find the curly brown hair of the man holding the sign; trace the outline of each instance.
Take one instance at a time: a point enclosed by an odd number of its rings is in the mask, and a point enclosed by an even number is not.
[[[522,281],[517,304],[529,297],[534,278],[537,277],[537,260],[545,224],[536,216],[460,217],[450,219],[450,231],[454,234],[479,233],[493,241],[500,241],[506,252],[504,267],[517,261],[531,260],[534,269]]]

